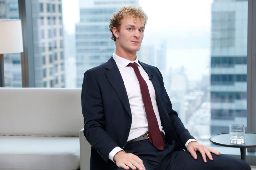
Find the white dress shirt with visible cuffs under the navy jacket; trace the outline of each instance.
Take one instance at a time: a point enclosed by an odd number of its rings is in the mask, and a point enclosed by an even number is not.
[[[145,112],[145,108],[142,100],[140,84],[134,72],[134,69],[130,66],[127,66],[129,63],[134,63],[134,62],[138,64],[140,74],[147,83],[149,94],[151,97],[151,102],[153,105],[153,110],[156,115],[159,129],[163,134],[165,134],[163,127],[161,125],[160,115],[159,115],[157,102],[156,102],[155,89],[153,87],[152,82],[149,80],[148,74],[139,64],[138,58],[136,58],[135,61],[130,61],[122,57],[119,57],[118,55],[113,53],[113,59],[115,60],[117,67],[121,73],[122,79],[124,81],[124,86],[128,95],[131,112],[132,112],[132,124],[131,124],[130,133],[127,141],[138,138],[141,135],[144,135],[148,131],[148,120],[147,120],[147,116],[146,116],[146,112]],[[195,141],[195,140],[189,139],[186,142],[186,147],[190,141]],[[108,158],[114,162],[113,158],[115,154],[121,150],[123,149],[121,149],[120,147],[115,147],[109,153]]]

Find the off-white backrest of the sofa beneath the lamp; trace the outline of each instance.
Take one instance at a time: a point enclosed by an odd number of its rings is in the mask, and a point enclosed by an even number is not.
[[[0,135],[79,136],[81,88],[0,88]]]

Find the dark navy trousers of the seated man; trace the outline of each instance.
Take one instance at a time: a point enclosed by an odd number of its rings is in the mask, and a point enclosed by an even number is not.
[[[125,152],[133,153],[143,160],[146,170],[250,170],[251,167],[243,160],[227,155],[212,154],[211,161],[207,157],[204,163],[200,152],[195,160],[188,151],[173,151],[175,143],[168,145],[164,140],[164,150],[156,149],[148,140],[127,144]],[[117,170],[124,170],[117,168]],[[131,169],[130,169],[131,170]]]

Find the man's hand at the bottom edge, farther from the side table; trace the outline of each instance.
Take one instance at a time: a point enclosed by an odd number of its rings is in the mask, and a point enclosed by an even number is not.
[[[114,161],[116,162],[116,165],[119,168],[124,168],[124,169],[132,168],[133,170],[136,170],[138,168],[139,170],[146,170],[142,163],[142,160],[138,156],[132,153],[119,151],[114,156]]]

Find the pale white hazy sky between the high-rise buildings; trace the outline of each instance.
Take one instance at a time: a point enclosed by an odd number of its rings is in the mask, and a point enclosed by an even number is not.
[[[167,68],[184,67],[189,80],[200,80],[209,70],[212,1],[139,1],[148,15],[143,41],[166,41]],[[62,8],[65,30],[74,34],[79,0],[62,0]]]

